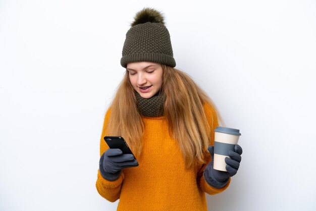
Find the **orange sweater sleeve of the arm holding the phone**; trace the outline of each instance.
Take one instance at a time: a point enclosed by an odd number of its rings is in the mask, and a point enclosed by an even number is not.
[[[109,148],[109,146],[104,141],[103,137],[106,136],[106,126],[109,122],[110,113],[111,109],[107,111],[106,117],[104,118],[103,129],[100,139],[100,156],[103,154],[104,151],[106,151]],[[111,202],[114,202],[120,198],[123,179],[124,174],[122,173],[121,176],[115,181],[106,180],[100,174],[100,170],[98,170],[96,190],[102,197],[106,198]]]

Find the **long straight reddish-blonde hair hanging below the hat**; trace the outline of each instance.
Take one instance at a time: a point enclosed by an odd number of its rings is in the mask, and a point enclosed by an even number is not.
[[[178,142],[186,167],[204,163],[211,138],[210,128],[203,104],[212,108],[213,119],[222,121],[214,103],[207,94],[184,72],[162,65],[162,93],[166,100],[164,115],[169,124],[170,134]],[[107,132],[111,136],[122,136],[132,148],[135,156],[142,152],[144,124],[137,110],[135,91],[126,71],[116,95],[110,105],[111,115]],[[214,123],[217,124],[217,123]]]

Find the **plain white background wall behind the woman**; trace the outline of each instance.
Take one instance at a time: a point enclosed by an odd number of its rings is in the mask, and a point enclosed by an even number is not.
[[[116,210],[95,181],[125,33],[162,10],[178,69],[239,128],[208,210],[315,210],[315,1],[0,1],[0,210]],[[189,199],[188,199],[189,200]]]

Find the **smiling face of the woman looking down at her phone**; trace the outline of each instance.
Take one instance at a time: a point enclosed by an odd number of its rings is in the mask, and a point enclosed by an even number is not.
[[[133,62],[127,64],[129,80],[139,95],[150,98],[163,84],[163,67],[153,62]]]

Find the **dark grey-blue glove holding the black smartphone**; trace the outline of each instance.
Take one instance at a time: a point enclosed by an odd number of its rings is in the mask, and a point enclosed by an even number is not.
[[[106,180],[117,180],[121,170],[138,166],[133,154],[123,154],[121,149],[108,149],[100,157],[100,174]]]

